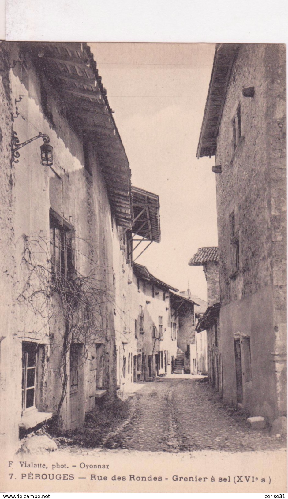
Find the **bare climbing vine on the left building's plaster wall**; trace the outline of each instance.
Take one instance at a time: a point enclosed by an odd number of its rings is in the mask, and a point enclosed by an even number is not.
[[[74,264],[66,272],[56,271],[50,257],[50,242],[39,234],[23,236],[22,270],[24,284],[18,302],[27,307],[35,317],[41,318],[37,332],[48,331],[51,345],[61,349],[59,378],[61,396],[57,416],[67,394],[70,347],[73,343],[82,345],[83,362],[89,358],[89,351],[96,342],[109,339],[107,305],[114,302],[113,291],[107,288],[106,279],[99,265],[92,267],[86,275]],[[85,242],[87,247],[91,246]],[[84,245],[84,246],[85,246]],[[82,245],[83,246],[83,245]],[[95,249],[89,249],[95,253]],[[54,335],[54,324],[62,317],[64,327],[59,327],[60,344]]]

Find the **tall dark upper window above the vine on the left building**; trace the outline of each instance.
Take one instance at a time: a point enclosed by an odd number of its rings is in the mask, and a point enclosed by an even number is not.
[[[67,278],[74,269],[72,234],[66,222],[50,213],[50,255],[56,276]]]

